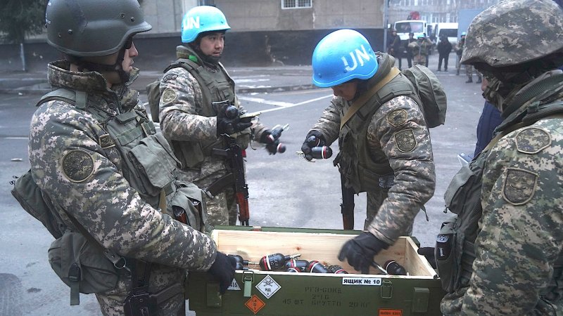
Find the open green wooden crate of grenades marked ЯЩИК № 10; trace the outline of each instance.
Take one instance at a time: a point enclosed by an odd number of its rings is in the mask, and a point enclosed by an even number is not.
[[[212,237],[224,254],[236,254],[258,262],[268,254],[301,254],[300,259],[341,265],[349,274],[236,271],[231,287],[222,296],[219,285],[206,273],[190,272],[189,309],[205,315],[441,315],[444,296],[435,270],[417,254],[414,237],[400,237],[374,260],[383,265],[394,260],[408,275],[355,274],[337,256],[341,246],[359,231],[298,228],[215,228]]]

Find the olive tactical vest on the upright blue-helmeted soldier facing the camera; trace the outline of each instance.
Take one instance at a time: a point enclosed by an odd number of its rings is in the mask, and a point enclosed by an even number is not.
[[[172,68],[182,67],[187,70],[196,81],[202,93],[202,106],[198,109],[198,115],[203,117],[215,117],[217,111],[213,108],[214,102],[229,100],[229,103],[238,107],[238,100],[234,94],[234,81],[227,74],[221,63],[217,64],[220,71],[210,72],[205,69],[203,64],[199,62],[196,53],[185,46],[177,47],[177,54],[181,57],[166,68],[164,72]],[[246,149],[250,141],[249,134],[243,133],[237,138],[237,143]],[[199,141],[181,141],[170,140],[170,144],[174,149],[176,157],[182,162],[182,168],[196,168],[198,164],[203,162],[205,157],[211,155],[213,148],[225,148],[227,146],[222,139],[216,140],[199,140]]]

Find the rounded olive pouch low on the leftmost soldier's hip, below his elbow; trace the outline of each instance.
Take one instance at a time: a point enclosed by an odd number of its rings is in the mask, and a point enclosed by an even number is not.
[[[70,305],[78,305],[78,293],[102,293],[115,289],[120,272],[80,232],[68,230],[49,247],[49,263],[70,287]]]

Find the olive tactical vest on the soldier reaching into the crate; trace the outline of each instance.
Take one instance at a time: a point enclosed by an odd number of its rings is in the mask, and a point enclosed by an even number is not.
[[[379,107],[398,96],[412,98],[422,110],[422,103],[414,91],[410,80],[403,74],[398,74],[369,98],[342,127],[339,134],[340,152],[334,159],[334,165],[339,166],[346,187],[353,188],[355,193],[366,192],[370,188],[373,190],[374,187],[393,186],[393,169],[388,159],[381,154],[381,157],[377,157],[381,161],[375,162],[369,153],[366,145],[367,129]]]

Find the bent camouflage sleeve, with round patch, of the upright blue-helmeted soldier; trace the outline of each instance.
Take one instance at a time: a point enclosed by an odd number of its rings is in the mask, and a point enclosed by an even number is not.
[[[217,138],[217,117],[199,115],[203,97],[198,81],[184,68],[168,70],[160,80],[160,129],[171,140]]]

